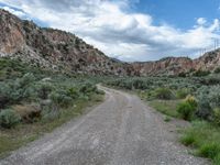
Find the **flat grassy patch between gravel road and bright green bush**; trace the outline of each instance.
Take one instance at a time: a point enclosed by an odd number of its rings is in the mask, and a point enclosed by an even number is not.
[[[155,110],[174,118],[178,118],[177,105],[180,100],[152,100],[148,105]]]

